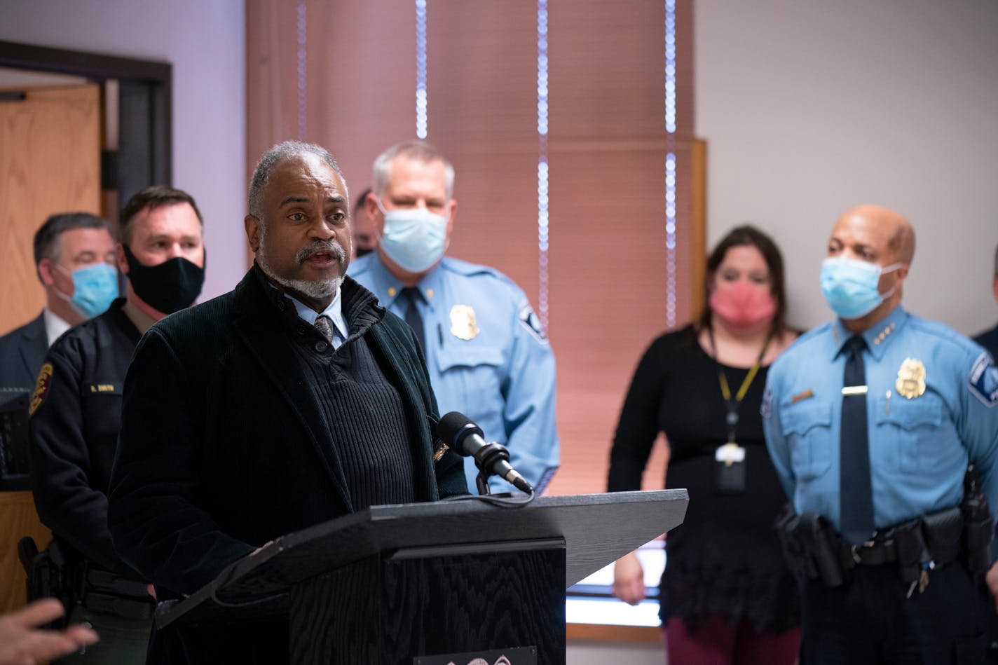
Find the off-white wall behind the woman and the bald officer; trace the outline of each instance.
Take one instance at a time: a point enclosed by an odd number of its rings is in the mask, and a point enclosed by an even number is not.
[[[790,321],[835,219],[877,203],[914,225],[909,311],[976,333],[998,320],[998,2],[696,1],[696,124],[709,240],[751,221],[787,267]]]

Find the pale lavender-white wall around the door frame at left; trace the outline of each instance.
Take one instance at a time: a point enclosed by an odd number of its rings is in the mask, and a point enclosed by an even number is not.
[[[244,0],[2,0],[0,40],[173,64],[173,185],[205,218],[202,300],[246,272]]]

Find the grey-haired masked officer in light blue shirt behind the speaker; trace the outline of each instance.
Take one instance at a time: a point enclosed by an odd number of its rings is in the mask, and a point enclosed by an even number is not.
[[[374,161],[368,217],[377,251],[349,275],[413,328],[440,412],[460,411],[540,492],[559,463],[555,358],[523,291],[487,266],[445,258],[457,202],[454,168],[428,144],[392,146]],[[468,486],[478,471],[465,460]],[[496,491],[510,485],[493,478]]]

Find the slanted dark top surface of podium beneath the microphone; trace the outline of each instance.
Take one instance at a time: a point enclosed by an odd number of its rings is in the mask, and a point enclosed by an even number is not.
[[[682,523],[688,502],[687,490],[663,489],[541,496],[521,507],[477,500],[371,506],[277,538],[163,608],[157,623],[227,605],[268,613],[298,582],[406,548],[446,555],[448,547],[477,545],[486,553],[498,543],[564,539],[567,588]]]

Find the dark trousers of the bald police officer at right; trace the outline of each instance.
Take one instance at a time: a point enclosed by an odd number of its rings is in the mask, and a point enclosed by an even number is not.
[[[958,563],[929,572],[923,593],[895,564],[856,566],[839,587],[806,580],[802,665],[983,665],[985,602],[980,580]]]

